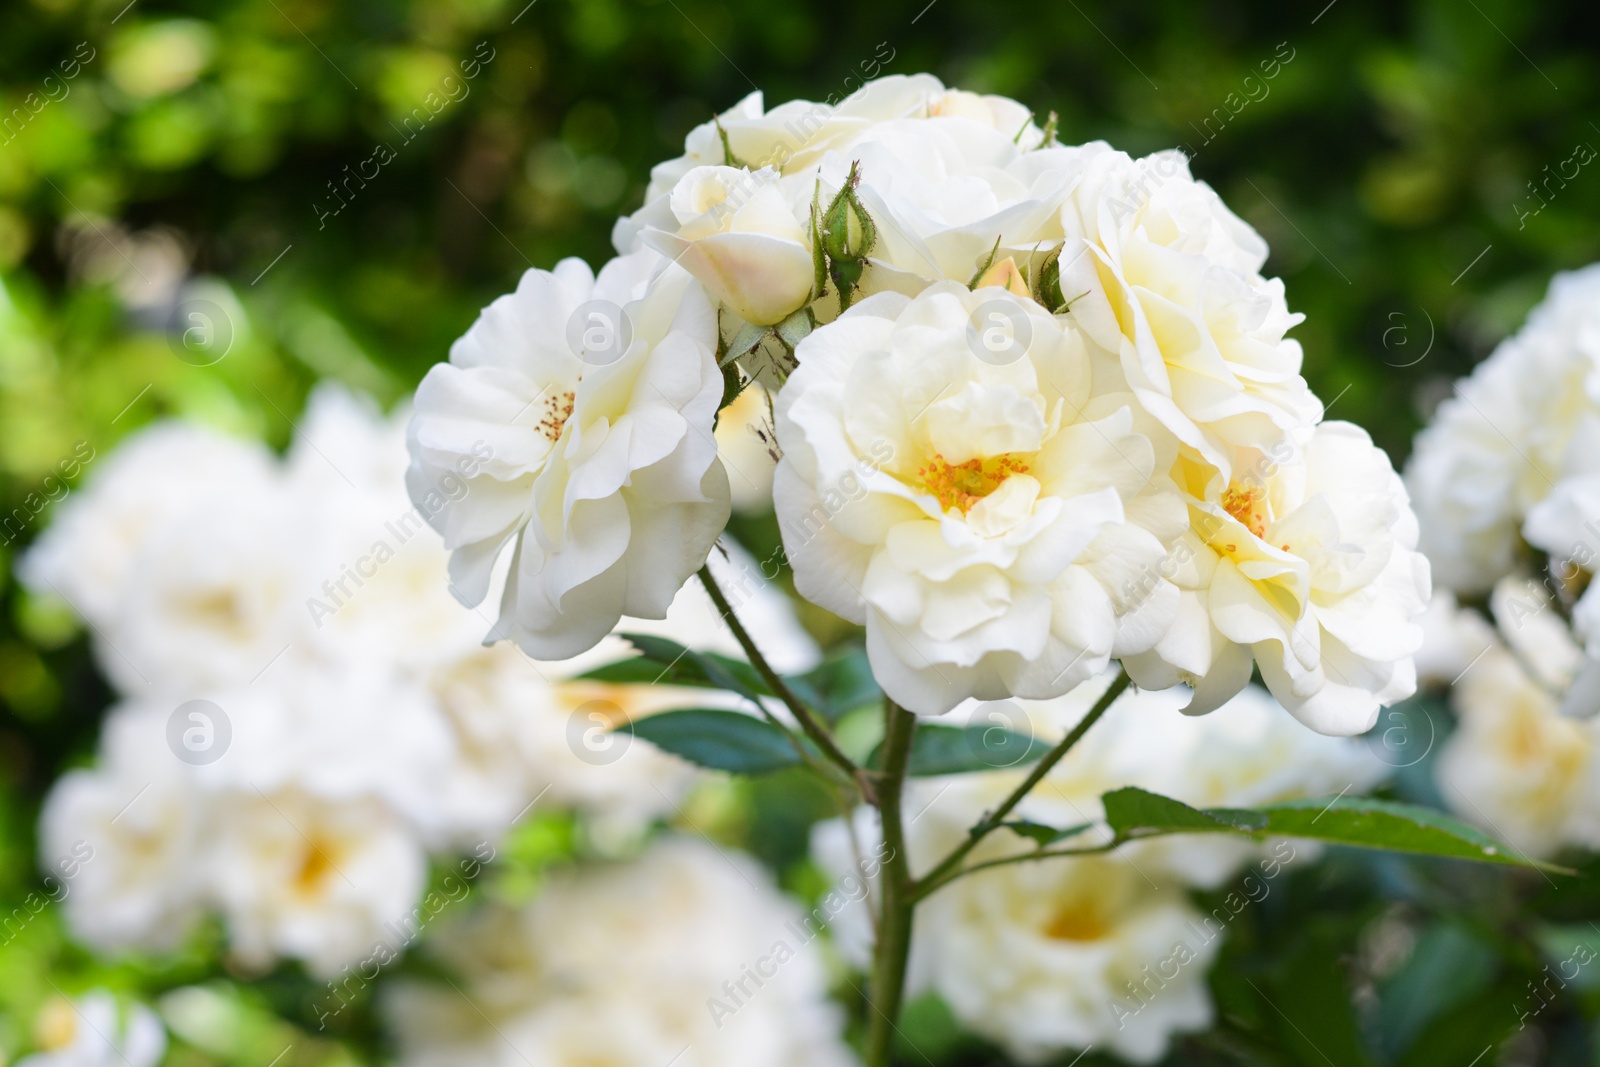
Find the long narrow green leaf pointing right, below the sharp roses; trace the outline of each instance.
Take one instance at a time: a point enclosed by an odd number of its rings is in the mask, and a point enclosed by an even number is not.
[[[1373,797],[1290,800],[1248,811],[1235,808],[1200,811],[1134,787],[1106,793],[1102,800],[1106,822],[1128,838],[1160,833],[1299,837],[1330,845],[1571,873],[1563,867],[1522,856],[1442,811]]]

